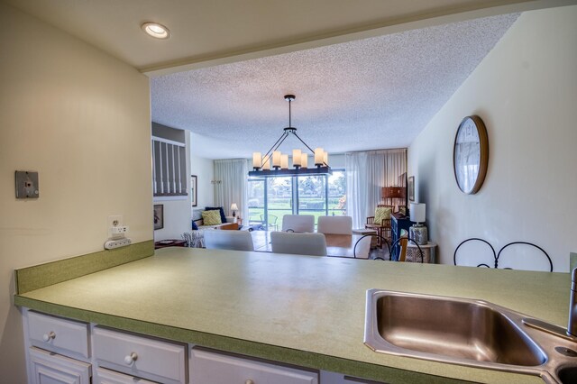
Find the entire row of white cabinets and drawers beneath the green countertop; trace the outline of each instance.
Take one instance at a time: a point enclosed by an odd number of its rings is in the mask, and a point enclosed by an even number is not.
[[[321,379],[323,384],[358,383],[343,380],[339,373],[117,331],[27,308],[23,325],[29,384],[318,384]]]

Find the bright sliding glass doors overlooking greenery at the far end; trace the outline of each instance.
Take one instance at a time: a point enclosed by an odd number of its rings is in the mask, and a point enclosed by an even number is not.
[[[283,215],[346,215],[345,193],[344,169],[331,176],[249,178],[249,224],[277,229]]]

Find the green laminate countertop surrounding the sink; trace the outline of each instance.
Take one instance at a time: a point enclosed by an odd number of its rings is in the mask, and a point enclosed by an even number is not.
[[[538,383],[372,352],[362,343],[366,290],[481,298],[566,325],[570,283],[568,273],[171,247],[16,295],[15,304],[368,379]]]

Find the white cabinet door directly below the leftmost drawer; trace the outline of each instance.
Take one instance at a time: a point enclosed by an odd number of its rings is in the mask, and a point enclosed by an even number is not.
[[[32,384],[90,384],[91,366],[58,353],[31,347],[28,350]]]

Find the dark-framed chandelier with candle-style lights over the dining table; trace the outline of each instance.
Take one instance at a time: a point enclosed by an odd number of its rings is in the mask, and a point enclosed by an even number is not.
[[[279,140],[272,144],[264,156],[261,156],[261,152],[252,153],[252,169],[254,170],[249,172],[249,176],[252,178],[274,178],[278,176],[332,175],[333,171],[328,165],[328,153],[322,148],[316,148],[313,151],[306,142],[298,137],[297,128],[291,126],[290,103],[295,100],[295,96],[285,95],[285,100],[289,102],[289,126],[283,130]],[[308,151],[298,149],[292,150],[293,168],[289,169],[289,155],[278,151],[280,144],[289,136],[295,136],[313,154],[314,167],[308,167]]]

